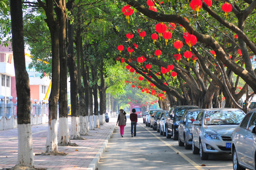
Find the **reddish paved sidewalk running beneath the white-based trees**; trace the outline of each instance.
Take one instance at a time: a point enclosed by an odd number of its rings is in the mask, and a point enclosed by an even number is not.
[[[109,123],[90,130],[88,135],[82,136],[86,140],[71,140],[78,146],[59,146],[59,152],[68,153],[66,156],[37,155],[45,150],[48,124],[33,125],[34,167],[47,170],[94,170],[116,127],[116,121],[117,118],[110,118]],[[68,122],[70,126],[70,117]],[[17,151],[17,128],[1,130],[0,170],[16,165]]]

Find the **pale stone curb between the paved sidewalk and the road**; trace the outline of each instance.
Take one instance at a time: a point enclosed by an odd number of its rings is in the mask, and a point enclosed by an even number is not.
[[[89,166],[87,167],[87,170],[95,170],[101,157],[102,157],[102,153],[105,151],[105,148],[109,142],[110,137],[113,134],[113,131],[115,130],[116,126],[112,127],[111,132],[109,133],[109,135],[106,137],[106,139],[104,140],[102,146],[100,147],[99,151],[96,153],[96,155],[94,156],[93,161],[91,161],[91,163],[89,164]]]

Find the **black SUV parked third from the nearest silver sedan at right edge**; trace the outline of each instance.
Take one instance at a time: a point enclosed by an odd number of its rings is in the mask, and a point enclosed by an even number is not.
[[[178,140],[179,120],[186,110],[200,109],[198,106],[172,106],[166,119],[166,137]]]

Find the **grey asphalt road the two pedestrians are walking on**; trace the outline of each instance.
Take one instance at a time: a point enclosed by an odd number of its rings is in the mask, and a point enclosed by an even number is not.
[[[110,121],[116,121],[111,119]],[[160,133],[145,127],[139,118],[137,136],[130,136],[130,121],[127,121],[124,137],[116,127],[102,154],[98,170],[232,170],[231,154],[209,155],[203,161],[192,150],[180,147],[178,141],[160,136]]]

